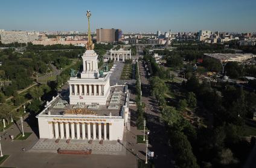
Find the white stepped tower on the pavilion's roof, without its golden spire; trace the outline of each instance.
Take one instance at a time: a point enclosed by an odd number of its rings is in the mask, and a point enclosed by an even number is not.
[[[79,77],[71,77],[69,84],[70,104],[106,105],[109,97],[110,73],[100,76],[98,73],[98,55],[94,50],[87,50],[83,56],[83,71]]]

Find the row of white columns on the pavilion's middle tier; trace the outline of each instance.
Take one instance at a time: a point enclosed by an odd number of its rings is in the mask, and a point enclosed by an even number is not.
[[[69,85],[70,95],[103,96],[104,85],[98,84],[71,84]]]

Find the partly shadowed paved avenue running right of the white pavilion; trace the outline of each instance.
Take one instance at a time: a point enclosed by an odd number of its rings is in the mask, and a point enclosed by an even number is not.
[[[154,151],[158,155],[158,158],[155,159],[155,167],[173,167],[168,148],[168,135],[165,131],[165,126],[159,122],[160,111],[158,103],[150,95],[149,79],[141,62],[139,62],[139,72],[141,75],[142,102],[146,104],[147,127],[150,130],[149,143],[152,145],[150,151]]]

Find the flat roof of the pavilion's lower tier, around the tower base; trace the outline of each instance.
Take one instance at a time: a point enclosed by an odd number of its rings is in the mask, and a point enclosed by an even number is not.
[[[126,86],[113,86],[110,90],[106,105],[70,105],[69,92],[63,90],[60,96],[46,104],[45,110],[40,115],[62,116],[121,116],[123,105],[126,105]],[[80,109],[80,110],[78,110]],[[81,111],[80,114],[77,111]]]

